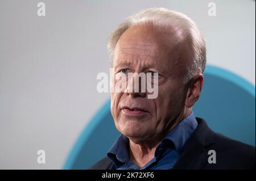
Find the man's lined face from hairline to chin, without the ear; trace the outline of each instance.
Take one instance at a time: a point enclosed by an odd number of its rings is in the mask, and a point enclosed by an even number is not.
[[[119,81],[114,75],[120,72],[158,73],[156,99],[148,99],[147,91],[111,95],[115,126],[129,138],[143,141],[161,137],[183,113],[187,93],[183,78],[189,54],[185,43],[177,43],[174,34],[148,24],[129,28],[118,40],[113,57],[114,83]]]

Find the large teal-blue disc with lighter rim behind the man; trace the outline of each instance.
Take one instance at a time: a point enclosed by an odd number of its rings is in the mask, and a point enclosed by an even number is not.
[[[216,66],[207,65],[204,77],[202,94],[193,107],[195,115],[207,120],[214,131],[255,145],[255,86]],[[119,134],[109,99],[82,131],[64,169],[87,169],[105,156]]]

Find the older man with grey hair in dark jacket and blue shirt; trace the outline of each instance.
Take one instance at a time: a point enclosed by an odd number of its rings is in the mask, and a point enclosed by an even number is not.
[[[192,19],[163,8],[130,16],[110,36],[115,75],[158,73],[158,96],[112,92],[111,112],[121,136],[90,169],[252,169],[253,146],[214,133],[193,115],[206,63],[204,37]],[[154,78],[154,77],[153,77]],[[132,79],[133,81],[133,79]]]

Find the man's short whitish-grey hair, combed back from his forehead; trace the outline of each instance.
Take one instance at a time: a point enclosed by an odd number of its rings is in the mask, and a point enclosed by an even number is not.
[[[109,37],[108,50],[110,54],[110,61],[113,59],[115,45],[122,34],[130,27],[137,24],[150,22],[154,27],[167,27],[175,30],[178,35],[187,40],[189,47],[191,47],[192,60],[191,64],[187,66],[184,75],[184,82],[187,83],[196,74],[204,73],[206,64],[206,45],[204,36],[188,16],[168,9],[150,8],[142,10],[137,14],[129,16],[124,22],[119,24]]]

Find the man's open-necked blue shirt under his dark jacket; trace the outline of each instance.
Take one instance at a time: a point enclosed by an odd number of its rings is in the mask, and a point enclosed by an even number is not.
[[[181,149],[189,136],[195,131],[196,127],[197,121],[193,112],[191,112],[188,117],[177,124],[176,127],[163,138],[160,145],[155,150],[155,157],[142,168],[130,160],[128,154],[129,139],[123,134],[117,138],[107,155],[113,161],[117,170],[172,169],[180,156]]]

